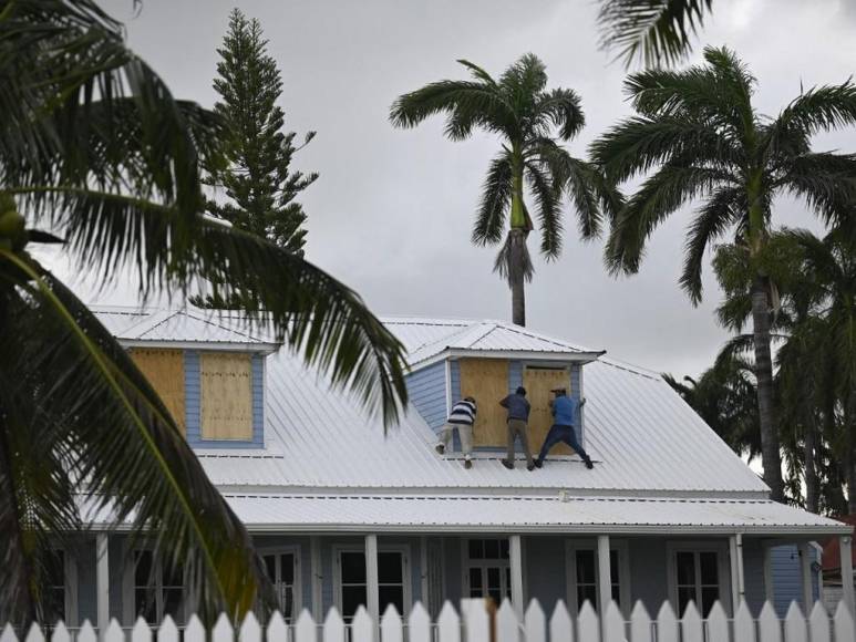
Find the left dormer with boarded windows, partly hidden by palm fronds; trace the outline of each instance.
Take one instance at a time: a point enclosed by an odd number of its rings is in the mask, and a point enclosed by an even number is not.
[[[123,319],[123,313],[140,319]],[[277,343],[245,332],[239,319],[207,311],[111,310],[99,317],[125,322],[118,332],[111,330],[190,446],[265,447],[265,361]]]

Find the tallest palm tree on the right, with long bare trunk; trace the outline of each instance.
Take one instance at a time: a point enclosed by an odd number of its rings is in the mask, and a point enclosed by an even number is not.
[[[606,260],[613,272],[636,272],[648,237],[669,215],[703,198],[685,245],[681,286],[697,304],[705,250],[732,230],[753,262],[752,322],[764,479],[782,499],[781,456],[770,352],[771,280],[755,265],[769,235],[773,199],[800,197],[824,220],[847,220],[856,203],[856,158],[815,153],[814,134],[856,122],[849,81],[802,93],[775,118],[760,115],[755,80],[728,49],[705,49],[705,64],[681,72],[651,70],[626,82],[637,116],[592,144],[617,183],[649,170],[613,220]]]

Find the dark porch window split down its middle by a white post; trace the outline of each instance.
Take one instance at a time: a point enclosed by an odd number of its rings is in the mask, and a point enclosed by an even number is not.
[[[336,553],[338,602],[342,618],[350,622],[367,603],[365,552],[340,548]],[[378,552],[378,605],[381,614],[389,604],[405,615],[410,608],[408,555],[405,549],[382,548]]]

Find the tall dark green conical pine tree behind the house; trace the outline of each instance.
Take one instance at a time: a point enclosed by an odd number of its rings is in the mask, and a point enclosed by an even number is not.
[[[214,89],[221,100],[214,108],[226,125],[224,143],[229,165],[209,169],[209,183],[225,188],[229,200],[212,200],[208,211],[302,256],[306,213],[295,198],[314,183],[318,174],[290,172],[289,166],[314,132],[309,132],[299,147],[295,146],[293,132],[282,132],[285,114],[277,106],[282,79],[267,53],[258,20],[248,20],[234,9],[217,53],[221,60]]]

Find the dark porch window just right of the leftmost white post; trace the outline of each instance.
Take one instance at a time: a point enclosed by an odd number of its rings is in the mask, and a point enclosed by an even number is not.
[[[137,550],[133,556],[132,612],[127,621],[142,617],[149,624],[171,615],[176,623],[184,621],[184,571],[166,569],[155,563],[151,550]]]

